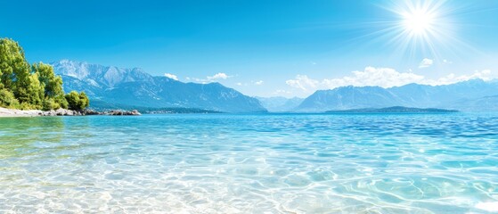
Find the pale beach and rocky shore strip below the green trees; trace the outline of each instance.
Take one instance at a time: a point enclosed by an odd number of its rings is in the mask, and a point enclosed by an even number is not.
[[[85,116],[85,115],[110,115],[110,116],[129,115],[129,116],[135,116],[135,115],[141,115],[141,113],[136,111],[136,110],[133,110],[133,111],[122,111],[122,110],[72,111],[72,110],[66,110],[66,109],[58,109],[58,110],[51,110],[51,111],[41,111],[41,110],[15,110],[15,109],[0,108],[0,117]]]

